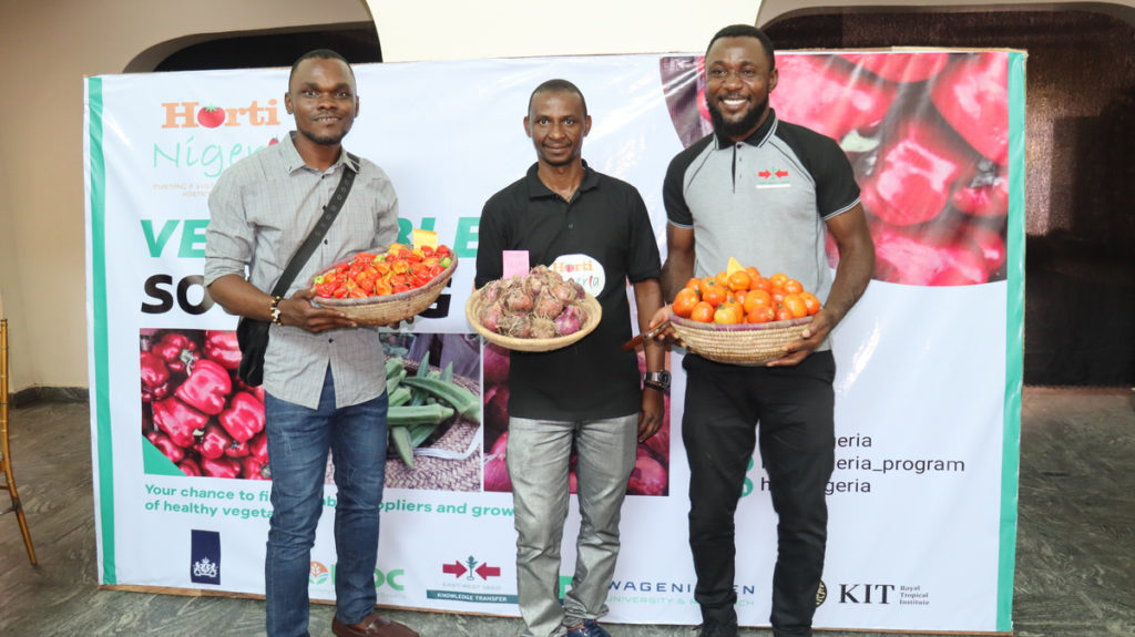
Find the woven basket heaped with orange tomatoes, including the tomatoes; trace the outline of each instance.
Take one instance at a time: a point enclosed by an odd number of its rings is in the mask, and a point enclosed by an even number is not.
[[[819,312],[816,296],[783,273],[756,267],[690,279],[671,306],[670,321],[687,348],[731,365],[760,365],[784,355]]]

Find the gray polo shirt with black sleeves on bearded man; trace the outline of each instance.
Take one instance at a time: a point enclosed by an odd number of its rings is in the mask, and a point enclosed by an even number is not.
[[[732,256],[765,277],[788,274],[823,303],[833,278],[824,222],[859,203],[859,186],[834,139],[770,110],[742,142],[711,134],[674,156],[663,199],[670,223],[693,229],[696,277]]]

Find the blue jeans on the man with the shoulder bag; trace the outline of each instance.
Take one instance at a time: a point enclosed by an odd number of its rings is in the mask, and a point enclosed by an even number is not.
[[[272,517],[264,559],[269,637],[308,635],[308,579],[323,510],[327,453],[335,460],[336,617],[356,623],[375,608],[378,513],[386,468],[387,396],[335,408],[328,368],[319,408],[264,396]]]

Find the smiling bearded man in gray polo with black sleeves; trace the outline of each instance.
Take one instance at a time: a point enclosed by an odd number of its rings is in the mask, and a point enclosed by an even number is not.
[[[773,45],[758,28],[725,27],[705,59],[712,135],[666,171],[666,264],[673,299],[690,277],[725,270],[729,257],[784,272],[824,303],[801,340],[766,367],[686,356],[682,441],[690,462],[690,547],[700,637],[734,637],[733,515],[757,442],[779,516],[771,621],[776,637],[812,635],[824,568],[824,491],[834,464],[835,362],[829,332],[871,280],[874,247],[859,187],[835,141],[780,121]],[[835,239],[834,277],[824,245]],[[666,309],[651,324],[661,324]],[[669,334],[667,334],[669,337]]]

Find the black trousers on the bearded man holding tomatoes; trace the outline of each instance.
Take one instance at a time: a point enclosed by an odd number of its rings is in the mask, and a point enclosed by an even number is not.
[[[821,351],[794,367],[740,367],[687,356],[683,366],[693,596],[706,617],[734,617],[733,513],[759,434],[779,516],[770,619],[777,636],[809,636],[827,540],[824,491],[834,465],[834,358]]]

